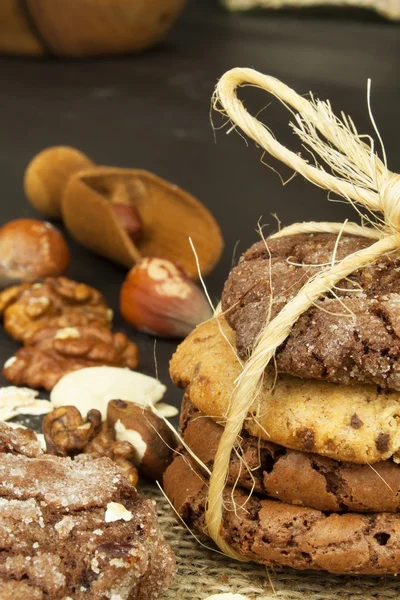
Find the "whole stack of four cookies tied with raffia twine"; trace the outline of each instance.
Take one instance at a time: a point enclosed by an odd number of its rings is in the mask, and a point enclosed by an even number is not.
[[[185,389],[185,447],[164,483],[190,528],[207,534],[208,475],[266,320],[321,268],[370,244],[331,234],[255,244],[225,284],[222,315],[178,348],[171,375]],[[278,348],[231,454],[221,535],[244,560],[270,566],[397,573],[399,462],[400,255],[392,253],[339,282]]]

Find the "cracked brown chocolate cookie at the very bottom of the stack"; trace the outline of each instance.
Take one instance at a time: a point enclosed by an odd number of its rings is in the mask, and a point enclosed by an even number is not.
[[[208,487],[183,457],[168,467],[164,489],[185,523],[205,533]],[[324,514],[226,488],[221,534],[246,560],[272,567],[371,575],[399,571],[399,515]]]

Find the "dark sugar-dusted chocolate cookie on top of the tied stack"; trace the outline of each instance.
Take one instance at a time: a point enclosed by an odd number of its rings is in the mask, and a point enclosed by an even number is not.
[[[302,234],[258,242],[235,267],[222,308],[247,357],[271,308],[274,318],[322,266],[372,242]],[[276,354],[278,371],[340,384],[400,390],[400,254],[382,257],[340,281],[294,325]]]

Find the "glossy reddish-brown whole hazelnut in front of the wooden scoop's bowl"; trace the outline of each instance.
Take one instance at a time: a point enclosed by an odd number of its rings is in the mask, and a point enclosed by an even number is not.
[[[185,337],[212,316],[203,292],[182,269],[161,258],[144,258],[129,271],[120,310],[140,331],[165,337]]]

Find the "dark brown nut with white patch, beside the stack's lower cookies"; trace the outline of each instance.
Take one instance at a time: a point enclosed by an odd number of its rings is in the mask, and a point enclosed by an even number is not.
[[[125,400],[111,400],[107,423],[114,429],[117,441],[129,442],[134,447],[133,462],[139,473],[147,479],[160,480],[177,445],[164,421],[151,408]]]

